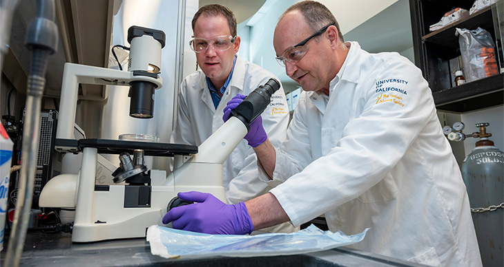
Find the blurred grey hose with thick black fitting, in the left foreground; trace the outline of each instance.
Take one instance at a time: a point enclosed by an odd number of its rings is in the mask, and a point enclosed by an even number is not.
[[[37,17],[26,31],[26,47],[32,50],[32,65],[28,76],[26,116],[23,121],[23,154],[19,181],[19,198],[16,202],[14,224],[10,233],[5,266],[19,266],[23,243],[28,229],[28,220],[37,169],[39,123],[43,88],[46,85],[48,56],[57,49],[58,30],[54,22],[55,1],[37,0]]]

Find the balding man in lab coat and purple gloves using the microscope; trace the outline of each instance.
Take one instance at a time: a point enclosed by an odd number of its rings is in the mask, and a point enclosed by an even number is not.
[[[316,1],[282,14],[273,46],[303,92],[280,148],[261,135],[246,138],[260,142],[261,179],[278,186],[235,205],[180,193],[200,203],[164,222],[244,234],[324,214],[331,231],[370,228],[352,248],[429,266],[481,266],[461,171],[418,67],[343,41],[333,14]]]

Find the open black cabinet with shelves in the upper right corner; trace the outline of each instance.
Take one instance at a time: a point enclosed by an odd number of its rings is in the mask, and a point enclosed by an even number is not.
[[[432,89],[438,110],[466,112],[504,103],[504,74],[481,78],[455,86],[452,63],[461,55],[455,28],[476,30],[481,27],[490,32],[495,45],[498,70],[504,67],[503,29],[504,0],[497,0],[474,14],[429,31],[429,25],[440,21],[453,8],[469,10],[474,0],[409,0],[411,26],[416,65],[420,67]]]

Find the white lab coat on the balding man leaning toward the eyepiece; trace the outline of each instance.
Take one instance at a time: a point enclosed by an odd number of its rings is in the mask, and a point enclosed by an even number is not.
[[[294,226],[325,213],[331,231],[371,228],[353,248],[432,266],[481,266],[432,93],[397,53],[369,54],[351,42],[329,97],[302,92],[277,150],[271,183],[282,181],[270,192]]]

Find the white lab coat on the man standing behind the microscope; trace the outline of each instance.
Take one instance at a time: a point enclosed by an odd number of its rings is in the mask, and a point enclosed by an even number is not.
[[[217,110],[206,85],[201,70],[188,75],[182,81],[178,96],[177,120],[171,142],[177,144],[201,145],[206,138],[219,129],[224,121],[223,109],[226,103],[237,94],[248,95],[255,88],[264,85],[276,76],[258,65],[236,58],[231,82],[226,88]],[[285,140],[289,124],[289,109],[283,87],[271,96],[270,105],[261,115],[262,125],[271,143],[280,146]],[[267,193],[272,187],[258,178],[257,157],[247,143],[242,140],[229,158],[222,164],[222,186],[229,203],[237,204]],[[292,232],[295,228],[289,223],[270,229],[270,231]]]

